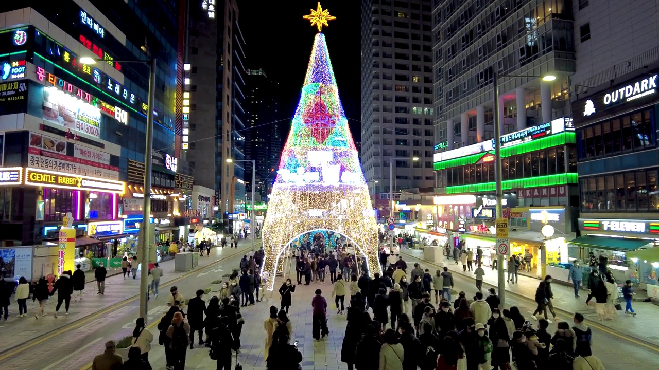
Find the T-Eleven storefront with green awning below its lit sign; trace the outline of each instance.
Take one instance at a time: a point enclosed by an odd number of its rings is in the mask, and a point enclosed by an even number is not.
[[[652,284],[656,280],[654,246],[659,238],[659,220],[579,219],[581,236],[569,240],[579,259],[588,264],[588,253],[608,258],[608,269],[616,280],[627,278]],[[659,253],[657,253],[659,254]]]

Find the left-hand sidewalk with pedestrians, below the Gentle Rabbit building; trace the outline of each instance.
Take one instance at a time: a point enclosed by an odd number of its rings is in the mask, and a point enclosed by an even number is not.
[[[163,269],[163,277],[160,280],[160,296],[161,300],[164,300],[169,293],[168,282],[185,275],[190,275],[190,273],[197,273],[201,268],[208,266],[212,263],[215,263],[219,259],[229,257],[231,255],[237,255],[240,253],[246,253],[250,251],[251,244],[250,242],[242,242],[239,244],[237,249],[235,248],[221,248],[215,247],[211,250],[211,257],[206,256],[199,257],[198,267],[186,271],[185,273],[177,273],[174,271],[175,260],[170,259],[169,261],[163,261],[160,263],[160,267]],[[219,271],[221,269],[217,268],[206,273],[218,273],[218,277],[221,275]],[[90,273],[86,273],[90,275]],[[55,312],[55,305],[57,304],[57,292],[55,295],[49,298],[48,304],[45,307],[45,313],[47,317],[39,316],[39,319],[35,319],[34,315],[39,311],[38,302],[32,302],[32,298],[28,299],[28,316],[23,318],[18,318],[18,305],[16,304],[14,298],[12,298],[11,305],[9,306],[9,320],[2,321],[0,326],[0,332],[2,333],[3,340],[0,341],[0,354],[11,350],[16,346],[20,346],[30,340],[34,340],[40,336],[50,334],[51,332],[61,329],[67,325],[72,325],[86,317],[94,315],[103,309],[111,309],[114,305],[120,304],[132,298],[135,298],[140,291],[140,274],[138,273],[138,278],[136,280],[132,278],[123,278],[121,277],[121,270],[119,270],[118,275],[113,275],[106,278],[105,280],[105,294],[100,296],[96,294],[98,291],[96,288],[95,282],[88,282],[85,285],[85,290],[83,294],[83,299],[78,300],[76,295],[71,297],[71,308],[69,309],[70,315],[65,315],[65,307],[62,304],[62,307],[59,309],[58,317],[55,319],[53,313]],[[152,300],[153,300],[152,295]]]

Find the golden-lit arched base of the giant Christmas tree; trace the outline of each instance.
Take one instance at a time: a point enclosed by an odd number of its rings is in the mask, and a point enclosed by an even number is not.
[[[266,252],[262,275],[266,288],[273,290],[275,271],[284,266],[282,251],[302,234],[331,230],[342,234],[366,256],[370,275],[382,273],[378,262],[378,225],[366,186],[326,186],[308,189],[294,184],[277,184],[268,205],[263,225]]]

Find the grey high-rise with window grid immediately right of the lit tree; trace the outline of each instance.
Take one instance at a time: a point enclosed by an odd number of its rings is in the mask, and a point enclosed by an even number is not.
[[[368,188],[389,192],[392,158],[395,190],[432,186],[430,0],[362,0],[361,12],[361,153]]]

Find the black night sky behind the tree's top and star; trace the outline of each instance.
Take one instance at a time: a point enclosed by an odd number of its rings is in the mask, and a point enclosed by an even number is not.
[[[339,85],[339,96],[355,142],[360,140],[360,9],[359,1],[323,0],[323,9],[337,19],[323,27]],[[258,4],[258,6],[256,5]],[[316,9],[318,1],[242,1],[239,24],[247,44],[246,68],[264,68],[268,78],[281,86],[281,118],[288,125],[300,99],[314,36],[302,16]],[[289,126],[281,134],[288,136]]]

